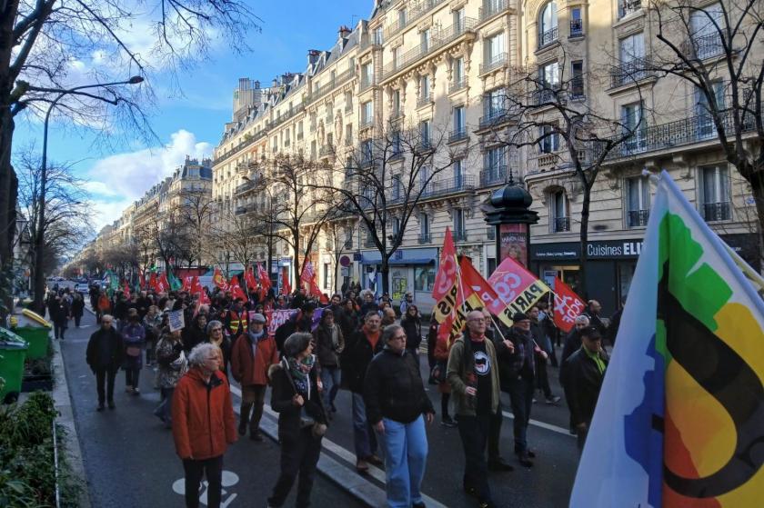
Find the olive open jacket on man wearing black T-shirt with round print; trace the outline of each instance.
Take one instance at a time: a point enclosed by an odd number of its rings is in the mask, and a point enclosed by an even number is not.
[[[451,344],[451,352],[448,354],[446,367],[446,379],[451,385],[452,399],[456,401],[457,414],[475,415],[474,398],[466,393],[467,386],[471,383],[469,377],[474,376],[475,358],[468,354],[465,359],[465,341],[469,340],[465,335],[460,336]],[[496,349],[490,340],[485,339],[486,354],[491,363],[491,413],[496,413],[499,406],[499,374]]]

